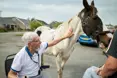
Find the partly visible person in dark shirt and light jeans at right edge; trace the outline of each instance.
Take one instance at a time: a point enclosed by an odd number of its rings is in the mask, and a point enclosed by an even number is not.
[[[83,78],[114,78],[112,75],[117,72],[117,31],[113,35],[107,54],[108,58],[104,65],[100,68],[95,66],[88,68]]]

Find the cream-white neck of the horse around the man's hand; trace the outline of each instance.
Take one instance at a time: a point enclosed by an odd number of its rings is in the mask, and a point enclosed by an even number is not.
[[[80,33],[83,33],[82,30],[82,24],[81,24],[81,20],[80,18],[76,15],[73,18],[71,18],[69,21],[64,22],[63,24],[61,24],[57,29],[56,29],[56,35],[55,38],[58,38],[60,36],[63,36],[64,33],[68,30],[68,28],[72,28],[73,32],[74,32],[74,36],[72,36],[70,39],[65,39],[64,40],[64,44],[66,44],[66,46],[71,47],[73,46],[74,43],[76,43]]]

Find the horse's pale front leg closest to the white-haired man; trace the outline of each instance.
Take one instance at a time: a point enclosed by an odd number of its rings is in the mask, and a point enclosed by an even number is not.
[[[56,57],[56,65],[57,65],[57,72],[58,72],[58,78],[62,78],[62,68],[61,68],[61,57],[57,55]]]

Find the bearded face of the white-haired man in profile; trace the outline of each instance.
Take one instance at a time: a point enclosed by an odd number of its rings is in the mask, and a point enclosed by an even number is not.
[[[33,50],[36,50],[40,47],[41,41],[38,36],[34,37],[33,40],[31,41],[31,47]]]

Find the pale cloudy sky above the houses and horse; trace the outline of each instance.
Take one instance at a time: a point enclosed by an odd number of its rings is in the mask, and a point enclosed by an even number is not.
[[[90,4],[92,0],[87,0]],[[117,0],[94,0],[104,24],[117,25]],[[67,21],[83,9],[82,0],[0,0],[2,17]]]

